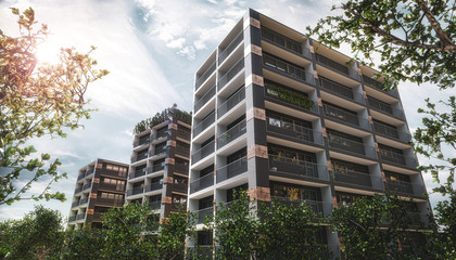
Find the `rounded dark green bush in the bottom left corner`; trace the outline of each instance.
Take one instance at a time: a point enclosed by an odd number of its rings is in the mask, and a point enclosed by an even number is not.
[[[0,227],[5,259],[49,259],[60,253],[64,234],[56,210],[37,206],[24,219],[3,222]]]

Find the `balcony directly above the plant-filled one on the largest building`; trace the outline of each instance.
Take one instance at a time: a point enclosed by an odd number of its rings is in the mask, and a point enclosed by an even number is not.
[[[263,53],[263,65],[271,68],[279,74],[304,81],[309,84],[315,84],[314,75],[307,74],[303,67],[297,67],[294,64],[279,60],[269,54]]]

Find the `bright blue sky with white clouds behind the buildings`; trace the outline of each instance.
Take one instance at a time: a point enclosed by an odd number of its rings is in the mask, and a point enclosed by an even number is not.
[[[319,18],[334,15],[330,0],[0,0],[0,28],[17,36],[15,16],[9,8],[21,11],[31,6],[39,23],[48,25],[51,35],[40,47],[39,56],[52,62],[61,47],[86,52],[98,49],[93,57],[99,68],[110,75],[89,86],[90,106],[98,112],[85,120],[84,129],[66,132],[65,139],[40,138],[30,141],[41,153],[60,158],[60,171],[68,178],[52,185],[68,198],[60,202],[18,202],[0,206],[0,221],[18,219],[34,205],[69,212],[78,169],[97,158],[129,162],[132,129],[173,103],[181,109],[192,108],[194,73],[215,50],[249,8],[299,31],[314,26]],[[42,50],[41,50],[42,48]],[[351,55],[346,47],[341,52]],[[352,55],[353,56],[353,55]],[[453,92],[439,92],[435,86],[401,83],[408,126],[420,126],[425,99],[445,99]],[[456,155],[455,155],[456,156]],[[419,157],[421,164],[425,158]],[[428,191],[436,184],[423,174]],[[17,185],[24,183],[18,182]],[[31,193],[42,191],[46,181],[33,185]],[[442,199],[432,194],[431,204]]]

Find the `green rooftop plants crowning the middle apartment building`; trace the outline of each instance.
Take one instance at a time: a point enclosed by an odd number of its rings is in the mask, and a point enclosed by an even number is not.
[[[140,133],[166,120],[172,120],[173,118],[191,125],[191,113],[180,110],[177,108],[177,104],[173,104],[172,107],[165,108],[161,113],[156,113],[155,116],[138,122],[135,126],[134,133]]]

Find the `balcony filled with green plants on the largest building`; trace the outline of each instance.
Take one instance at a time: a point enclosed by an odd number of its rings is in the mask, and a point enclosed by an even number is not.
[[[318,113],[318,105],[304,93],[275,83],[265,83],[265,96],[296,110]]]

